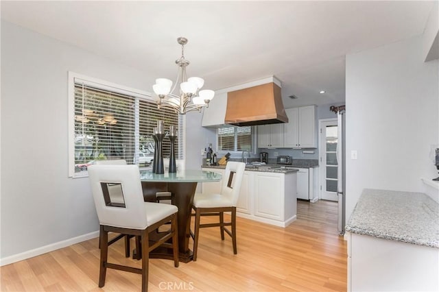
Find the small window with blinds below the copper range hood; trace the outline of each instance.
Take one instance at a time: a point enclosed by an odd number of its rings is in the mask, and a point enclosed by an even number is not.
[[[254,153],[254,127],[219,127],[217,130],[218,151],[243,151]]]

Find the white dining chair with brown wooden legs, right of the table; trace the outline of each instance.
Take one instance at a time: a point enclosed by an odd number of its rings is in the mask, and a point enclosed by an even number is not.
[[[236,242],[236,204],[238,202],[241,182],[246,164],[244,162],[227,162],[222,189],[220,193],[195,194],[192,208],[195,211],[195,229],[191,232],[193,238],[193,260],[197,260],[198,239],[200,228],[218,227],[221,239],[224,241],[224,232],[232,238],[233,254],[237,254]],[[230,222],[224,222],[224,212],[231,213]],[[218,223],[201,224],[202,216],[219,216]],[[230,226],[228,230],[225,226]]]

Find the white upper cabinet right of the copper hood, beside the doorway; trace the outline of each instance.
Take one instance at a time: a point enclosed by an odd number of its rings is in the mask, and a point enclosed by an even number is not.
[[[284,125],[285,148],[317,148],[316,106],[287,108]]]

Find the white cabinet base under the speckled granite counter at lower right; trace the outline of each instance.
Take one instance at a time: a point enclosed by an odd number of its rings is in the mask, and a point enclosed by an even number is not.
[[[346,235],[348,291],[439,291],[437,248]]]

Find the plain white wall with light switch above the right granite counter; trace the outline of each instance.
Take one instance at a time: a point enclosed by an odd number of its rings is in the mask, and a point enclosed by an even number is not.
[[[346,56],[346,218],[364,188],[421,192],[437,176],[438,70],[421,37]]]

